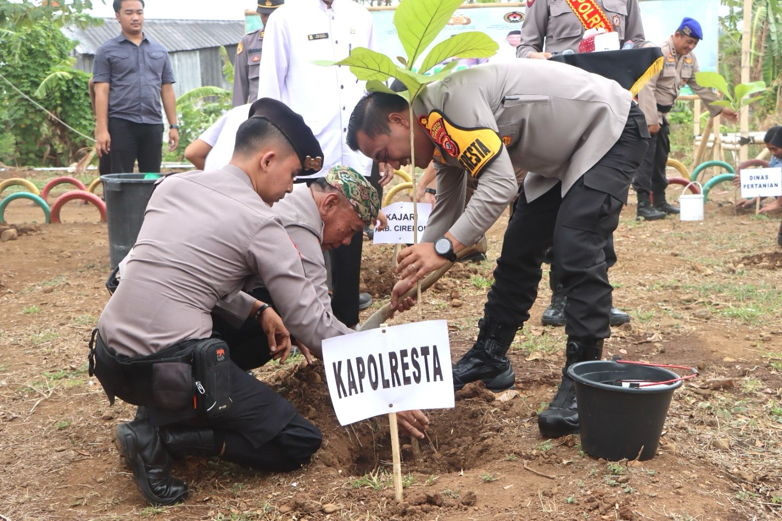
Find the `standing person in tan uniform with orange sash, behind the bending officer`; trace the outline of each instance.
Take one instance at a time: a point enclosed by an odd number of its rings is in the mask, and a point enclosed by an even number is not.
[[[576,15],[579,9],[588,15],[579,18]],[[619,33],[620,43],[632,41],[633,45],[640,45],[644,42],[638,0],[527,0],[522,41],[516,48],[516,56],[547,59],[566,50],[578,52],[587,26],[600,20],[600,17],[592,17],[598,9],[610,28]],[[608,268],[616,262],[613,243],[612,237],[605,248]],[[554,250],[549,250],[546,262],[551,265],[551,304],[543,311],[543,325],[565,325],[565,293],[554,257]],[[609,320],[611,325],[622,325],[630,322],[630,315],[612,306]]]

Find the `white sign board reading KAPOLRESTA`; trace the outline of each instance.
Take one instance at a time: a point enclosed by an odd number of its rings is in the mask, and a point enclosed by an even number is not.
[[[323,365],[340,425],[389,412],[454,407],[444,320],[324,340]]]

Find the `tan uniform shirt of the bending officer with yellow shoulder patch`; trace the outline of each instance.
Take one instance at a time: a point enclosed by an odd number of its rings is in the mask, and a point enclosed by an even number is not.
[[[528,201],[558,181],[565,196],[619,139],[630,102],[630,92],[615,81],[543,59],[488,63],[430,84],[414,102],[417,119],[436,110],[458,128],[490,129],[504,145],[479,171],[466,209],[468,173],[460,158],[477,156],[460,149],[454,157],[436,147],[437,203],[422,240],[450,230],[460,243],[475,243],[515,196],[515,170],[530,171],[524,180]]]

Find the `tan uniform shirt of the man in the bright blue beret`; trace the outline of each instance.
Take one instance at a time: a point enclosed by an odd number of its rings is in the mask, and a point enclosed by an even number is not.
[[[712,101],[719,99],[719,95],[711,88],[701,87],[695,81],[695,73],[700,68],[694,53],[690,52],[687,56],[677,55],[676,49],[673,47],[673,36],[669,36],[660,45],[660,50],[662,51],[662,59],[665,59],[662,72],[653,77],[638,92],[638,106],[640,106],[640,110],[644,111],[647,123],[651,125],[652,122],[656,122],[662,125],[665,114],[657,110],[658,104],[672,106],[684,84],[689,85],[692,91],[700,96],[712,116],[719,114],[723,107],[709,105]]]

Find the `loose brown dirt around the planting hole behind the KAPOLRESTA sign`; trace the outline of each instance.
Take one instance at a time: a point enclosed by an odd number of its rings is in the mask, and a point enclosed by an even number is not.
[[[316,462],[360,476],[391,461],[385,417],[339,426],[321,363],[280,369],[267,383],[321,429],[323,450],[315,455]],[[519,399],[494,402],[493,394],[480,387],[465,387],[453,409],[428,412],[431,423],[420,442],[419,461],[415,461],[410,438],[401,436],[406,469],[424,474],[458,472],[508,455],[508,443],[503,440],[503,434],[512,429],[508,418],[529,422],[533,410]]]

